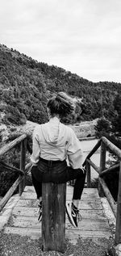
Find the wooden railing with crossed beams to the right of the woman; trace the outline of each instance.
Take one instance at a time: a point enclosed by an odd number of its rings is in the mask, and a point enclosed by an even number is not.
[[[96,166],[94,162],[90,160],[90,157],[94,155],[97,149],[101,147],[100,150],[100,166]],[[114,153],[119,158],[119,164],[115,166],[111,166],[106,169],[106,150],[110,149],[112,153]],[[91,172],[90,166],[94,168],[98,172],[98,194],[100,196],[105,195],[109,204],[111,205],[111,209],[114,212],[116,218],[116,227],[115,227],[115,243],[121,243],[121,150],[117,148],[111,141],[108,141],[106,137],[103,137],[98,141],[98,143],[94,146],[94,149],[90,151],[88,156],[86,157],[86,161],[83,163],[83,166],[86,166],[87,171],[87,187],[91,187]],[[109,191],[106,186],[104,176],[115,171],[115,168],[119,166],[119,191],[118,191],[118,200],[117,204],[115,199],[113,199],[111,195],[111,191]]]

